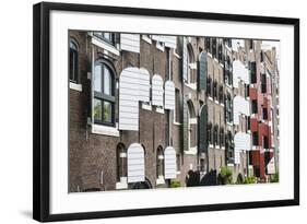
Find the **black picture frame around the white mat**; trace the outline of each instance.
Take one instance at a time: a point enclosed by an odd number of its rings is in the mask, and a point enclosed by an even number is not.
[[[82,213],[50,214],[49,210],[49,42],[50,11],[73,11],[133,14],[147,16],[166,16],[198,19],[211,21],[253,22],[286,24],[294,27],[294,198],[261,202],[222,203],[210,205],[187,205],[173,208],[97,211]],[[239,14],[221,14],[156,9],[120,8],[91,4],[42,2],[33,8],[33,219],[40,222],[68,221],[83,219],[106,219],[135,215],[153,215],[185,212],[204,212],[216,210],[238,210],[299,204],[299,19],[251,16]]]

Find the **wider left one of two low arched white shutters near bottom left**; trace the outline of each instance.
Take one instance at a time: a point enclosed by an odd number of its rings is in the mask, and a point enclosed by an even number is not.
[[[144,149],[139,143],[132,143],[127,150],[128,182],[145,180]]]

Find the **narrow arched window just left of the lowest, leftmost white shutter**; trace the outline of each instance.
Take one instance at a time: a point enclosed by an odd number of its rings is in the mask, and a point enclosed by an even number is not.
[[[117,145],[117,180],[127,182],[127,149],[125,144]]]

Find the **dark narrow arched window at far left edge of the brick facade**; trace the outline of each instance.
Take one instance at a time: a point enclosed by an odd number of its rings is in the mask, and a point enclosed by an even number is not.
[[[71,82],[78,83],[79,81],[79,47],[76,42],[70,39],[69,44],[69,79]]]

